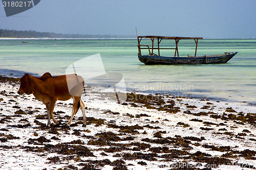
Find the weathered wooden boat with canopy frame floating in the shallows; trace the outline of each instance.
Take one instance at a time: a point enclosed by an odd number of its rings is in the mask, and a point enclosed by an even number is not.
[[[217,64],[217,63],[226,63],[228,62],[234,55],[238,52],[233,53],[224,53],[222,55],[211,55],[211,56],[199,56],[197,57],[197,46],[198,46],[198,39],[203,39],[199,37],[162,37],[162,36],[137,36],[138,38],[138,58],[139,60],[147,65],[150,64]],[[152,46],[140,44],[141,40],[150,39],[152,41]],[[160,42],[163,39],[172,39],[175,40],[176,47],[175,48],[160,48]],[[180,57],[178,51],[178,43],[181,39],[194,39],[196,42],[196,50],[195,56],[187,56],[187,57]],[[154,47],[154,41],[157,41],[157,47]],[[145,46],[145,47],[143,47]],[[147,49],[147,55],[142,55],[141,50]],[[154,50],[158,53],[155,54]],[[160,56],[160,50],[175,50],[174,57],[165,57]]]

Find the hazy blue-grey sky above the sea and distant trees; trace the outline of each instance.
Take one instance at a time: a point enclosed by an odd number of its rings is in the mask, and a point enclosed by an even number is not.
[[[13,0],[17,1],[17,0]],[[0,29],[63,34],[256,38],[255,0],[41,0]]]

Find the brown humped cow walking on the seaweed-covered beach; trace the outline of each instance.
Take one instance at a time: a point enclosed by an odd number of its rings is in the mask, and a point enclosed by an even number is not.
[[[20,87],[18,94],[26,93],[33,94],[36,99],[40,100],[46,105],[48,114],[48,124],[51,126],[50,119],[53,119],[55,124],[59,124],[53,117],[53,109],[57,100],[67,101],[73,98],[72,116],[69,120],[68,126],[81,107],[83,115],[83,127],[86,126],[86,113],[84,104],[81,100],[81,93],[83,91],[84,80],[76,74],[62,75],[53,77],[49,72],[46,72],[42,77],[34,77],[25,74],[20,78]]]

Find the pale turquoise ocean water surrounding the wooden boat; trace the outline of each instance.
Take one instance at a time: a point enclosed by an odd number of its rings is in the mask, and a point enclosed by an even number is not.
[[[150,45],[151,42],[143,44]],[[174,47],[174,43],[164,40],[161,45]],[[1,39],[0,75],[22,77],[25,72],[38,76],[45,72],[63,75],[75,62],[90,70],[90,61],[81,59],[100,54],[101,60],[91,65],[98,63],[102,67],[103,64],[105,72],[122,74],[127,91],[255,105],[256,39],[199,40],[197,56],[224,52],[239,53],[225,64],[144,65],[137,57],[137,39]],[[194,53],[194,40],[180,40],[180,56],[193,56]],[[161,55],[174,56],[174,50],[161,51]]]

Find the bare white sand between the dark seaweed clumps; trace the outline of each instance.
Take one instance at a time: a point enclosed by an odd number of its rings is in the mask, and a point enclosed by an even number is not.
[[[33,114],[26,114],[22,115],[23,117],[11,117],[12,119],[8,119],[9,122],[5,122],[4,124],[0,124],[0,129],[5,128],[9,131],[1,131],[0,134],[11,134],[13,136],[19,137],[19,139],[8,139],[7,142],[0,142],[0,145],[6,145],[6,146],[15,146],[12,149],[4,149],[3,147],[0,148],[0,169],[58,169],[58,168],[64,168],[68,165],[74,165],[78,167],[79,169],[82,168],[82,166],[79,166],[78,164],[81,162],[75,162],[74,160],[62,160],[59,163],[48,163],[49,160],[47,158],[59,156],[60,158],[63,157],[61,154],[57,153],[36,153],[36,152],[27,152],[25,149],[22,149],[24,146],[31,146],[35,147],[33,144],[28,144],[29,138],[35,139],[40,136],[44,136],[47,139],[50,139],[51,142],[49,144],[57,144],[62,142],[70,142],[73,140],[80,139],[84,143],[87,143],[90,139],[72,135],[74,130],[81,130],[81,135],[90,135],[94,136],[96,133],[100,132],[114,132],[114,133],[120,133],[118,132],[120,129],[114,129],[114,128],[108,128],[106,124],[95,127],[95,124],[88,125],[86,128],[82,128],[81,125],[78,125],[76,127],[71,127],[69,130],[69,133],[60,132],[59,135],[48,133],[48,130],[41,130],[36,129],[36,127],[39,127],[34,123],[34,120],[37,115],[39,114],[46,114],[45,113],[45,105],[43,105],[40,101],[35,100],[33,95],[18,95],[16,92],[19,88],[19,85],[15,84],[0,84],[0,92],[6,91],[3,93],[0,93],[0,99],[2,98],[3,101],[0,101],[0,119],[5,118],[6,116],[14,115],[14,112],[19,110],[17,108],[13,108],[13,106],[19,106],[22,110],[29,110],[34,111],[38,110],[38,112],[34,112]],[[14,93],[12,93],[14,92]],[[8,94],[8,96],[5,96],[5,94]],[[144,128],[143,130],[137,130],[140,134],[133,135],[136,138],[133,141],[130,142],[143,142],[141,139],[143,138],[150,138],[150,139],[157,139],[154,136],[154,133],[158,131],[166,131],[166,134],[162,134],[162,137],[175,137],[175,135],[180,135],[181,137],[185,136],[194,136],[194,137],[204,137],[205,140],[202,140],[198,143],[201,145],[206,143],[209,145],[216,145],[218,147],[221,146],[230,146],[232,150],[236,151],[243,151],[246,149],[256,151],[256,144],[255,141],[249,140],[249,139],[256,139],[256,127],[252,126],[248,123],[245,123],[244,125],[239,125],[237,123],[234,123],[233,120],[221,120],[221,119],[214,119],[209,116],[195,116],[192,114],[184,114],[183,111],[190,110],[192,113],[198,113],[200,111],[212,111],[217,114],[222,115],[227,107],[232,107],[232,109],[236,110],[237,113],[232,114],[238,114],[239,112],[244,113],[255,113],[256,107],[255,106],[246,106],[244,103],[225,103],[225,102],[216,102],[216,101],[200,101],[197,99],[184,99],[184,98],[178,98],[173,99],[172,96],[169,96],[170,98],[166,98],[165,101],[168,100],[175,100],[176,106],[180,107],[180,112],[178,113],[166,113],[165,111],[158,111],[156,109],[146,109],[145,107],[132,107],[131,105],[125,106],[125,105],[119,105],[116,103],[116,101],[110,101],[110,100],[102,100],[99,95],[87,93],[87,96],[82,97],[84,104],[86,107],[90,108],[90,110],[86,110],[86,116],[87,117],[94,117],[94,118],[102,118],[105,119],[105,123],[109,123],[110,121],[115,121],[116,125],[139,125],[139,126],[145,126],[150,125],[153,127],[160,127],[161,129],[149,129]],[[10,100],[14,100],[15,102],[9,102]],[[59,104],[59,103],[63,104]],[[206,106],[207,102],[212,103],[212,105],[209,105],[211,110],[209,109],[200,109],[203,106]],[[65,105],[73,103],[72,100],[69,101],[58,101],[54,111],[64,111],[66,113],[61,113],[60,116],[65,115],[71,115],[72,106],[71,105]],[[189,109],[186,108],[185,104],[189,105],[195,105],[197,108]],[[32,109],[28,109],[28,107],[32,107]],[[37,109],[36,109],[37,108]],[[41,108],[41,109],[38,109]],[[111,110],[112,112],[119,112],[120,114],[115,115],[111,113],[104,113],[106,110]],[[126,113],[130,113],[132,115],[136,114],[147,114],[150,117],[140,117],[140,118],[130,118],[129,116],[125,116]],[[3,116],[5,115],[5,116]],[[79,110],[78,113],[75,115],[73,122],[77,122],[77,118],[81,117],[81,111]],[[27,119],[28,122],[19,122],[20,119]],[[55,118],[58,120],[57,116],[55,115]],[[192,122],[190,119],[197,118],[203,120],[203,122],[211,122],[211,123],[224,123],[226,126],[216,126],[216,125],[210,125],[210,126],[204,126],[202,122]],[[166,121],[165,119],[169,120]],[[68,119],[65,119],[67,121]],[[47,119],[38,119],[39,122],[47,124]],[[154,121],[154,123],[152,123]],[[157,122],[156,122],[157,121]],[[53,122],[51,120],[51,122]],[[183,126],[177,125],[178,122],[182,122],[185,124],[188,124],[189,127],[184,128]],[[238,121],[239,122],[239,121]],[[28,128],[12,128],[8,127],[8,125],[18,125],[22,124],[25,125],[27,123],[31,124],[31,127]],[[200,127],[207,127],[207,128],[214,128],[214,130],[210,131],[204,131],[201,130]],[[225,128],[227,131],[219,131],[219,129]],[[251,133],[246,133],[246,136],[241,136],[243,139],[239,139],[236,137],[231,137],[229,135],[223,135],[223,134],[215,134],[216,132],[232,132],[234,135],[238,135],[238,133],[242,133],[242,131],[246,129],[249,130]],[[91,132],[84,132],[83,130],[90,130]],[[147,134],[143,134],[143,132],[146,131]],[[38,136],[34,136],[34,133],[37,133]],[[131,134],[127,134],[127,136],[130,136]],[[3,135],[2,135],[3,136]],[[60,140],[53,140],[51,137],[56,136]],[[122,136],[125,137],[125,136]],[[0,136],[1,138],[1,136]],[[129,141],[118,141],[116,143],[128,143]],[[146,142],[144,142],[146,143]],[[219,152],[219,151],[211,151],[210,149],[203,148],[201,145],[196,146],[193,143],[197,143],[197,141],[191,141],[192,144],[189,144],[190,147],[193,149],[189,150],[189,153],[195,153],[197,151],[201,151],[203,153],[207,153],[214,156],[221,156],[227,152]],[[44,143],[45,144],[45,143]],[[169,149],[177,149],[181,150],[182,148],[174,148],[172,144],[156,144],[156,143],[150,143],[151,147],[169,147]],[[18,146],[20,145],[20,146]],[[81,160],[103,160],[103,159],[110,159],[111,161],[122,159],[121,157],[113,157],[113,155],[119,153],[134,153],[137,151],[121,151],[121,152],[115,152],[115,153],[106,153],[108,156],[102,156],[100,153],[102,153],[102,150],[97,151],[97,149],[100,148],[108,148],[108,147],[99,147],[97,145],[88,145],[84,144],[86,147],[92,150],[93,154],[96,157],[80,157]],[[18,147],[17,147],[18,146]],[[43,145],[38,145],[38,147],[42,147]],[[134,147],[134,146],[133,146]],[[132,147],[132,148],[133,148]],[[152,153],[150,151],[147,151],[148,149],[145,149],[143,153]],[[159,154],[159,153],[158,153]],[[161,153],[159,154],[161,155]],[[67,155],[66,155],[67,156]],[[157,161],[147,161],[147,160],[124,160],[125,165],[128,169],[172,169],[170,165],[177,162],[184,162],[183,159],[173,159],[172,161],[163,162],[162,158],[157,158]],[[244,164],[250,164],[256,167],[256,160],[248,160],[241,156],[238,156],[237,158],[228,158],[231,159],[232,162],[239,162]],[[140,165],[137,162],[143,161],[147,165]],[[187,163],[196,165],[199,162],[194,162],[193,160],[186,159]],[[84,162],[87,163],[87,162]],[[133,165],[128,165],[133,164]],[[159,168],[160,165],[165,164],[166,167]],[[205,162],[202,162],[202,166],[206,165]],[[202,166],[200,166],[202,168]],[[113,169],[114,166],[111,165],[105,165],[104,167],[97,167],[102,169]],[[215,168],[214,168],[215,169]],[[235,165],[222,165],[216,169],[252,169],[252,168],[242,168],[241,166],[235,166]]]

